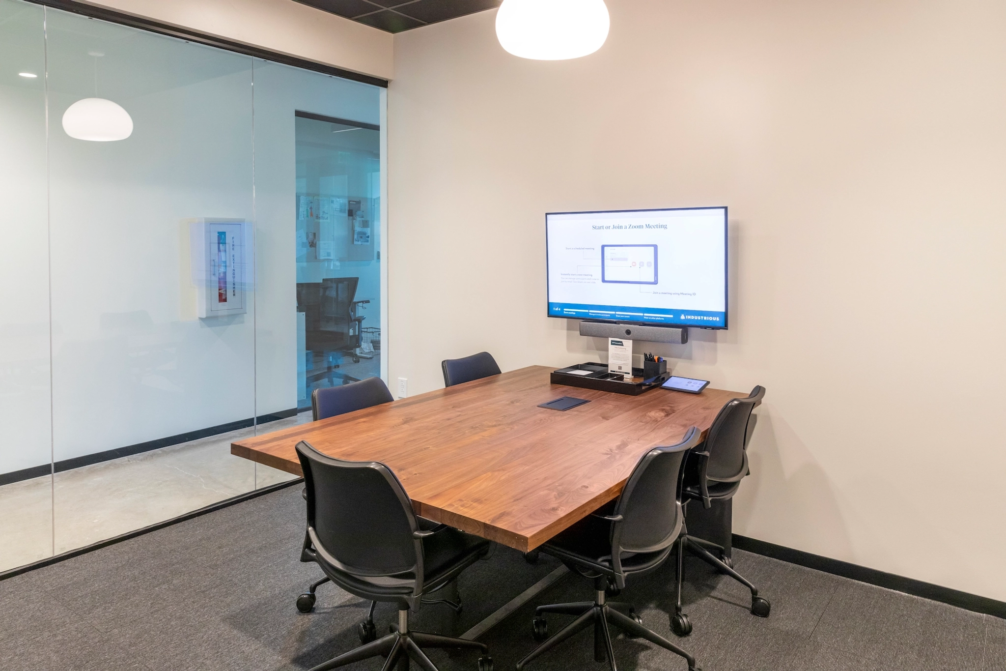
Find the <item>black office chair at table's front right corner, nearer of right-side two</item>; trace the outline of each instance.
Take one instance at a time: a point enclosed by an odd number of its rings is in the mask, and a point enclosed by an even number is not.
[[[681,443],[654,448],[640,459],[629,476],[625,489],[614,505],[603,508],[611,514],[594,513],[541,545],[541,551],[559,558],[580,575],[594,579],[594,603],[555,604],[534,610],[533,633],[544,641],[517,663],[523,669],[576,632],[594,626],[594,658],[605,661],[616,671],[615,652],[609,624],[629,636],[644,638],[680,655],[696,671],[695,658],[643,625],[629,604],[607,603],[606,591],[619,592],[626,577],[656,569],[670,555],[684,522],[678,488],[685,453],[698,445],[701,432],[688,430]],[[628,615],[623,613],[628,611]],[[578,616],[551,638],[545,613]]]

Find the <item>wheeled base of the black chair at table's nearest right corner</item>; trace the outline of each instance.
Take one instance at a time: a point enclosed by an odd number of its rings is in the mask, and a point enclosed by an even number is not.
[[[595,593],[597,597],[593,604],[586,602],[579,604],[553,604],[551,606],[539,606],[536,608],[534,610],[535,638],[539,638],[546,631],[545,628],[540,626],[540,623],[544,622],[541,618],[542,614],[558,613],[562,615],[574,615],[577,617],[571,623],[559,630],[554,636],[545,640],[541,645],[531,651],[531,653],[524,657],[524,659],[517,662],[517,669],[523,669],[531,661],[562,643],[573,634],[576,634],[588,627],[594,626],[595,660],[604,662],[607,659],[612,671],[618,671],[618,665],[615,662],[615,650],[612,647],[612,633],[609,628],[609,625],[615,625],[632,638],[646,639],[647,641],[655,643],[665,650],[673,652],[675,655],[683,657],[688,663],[688,671],[700,671],[700,669],[695,666],[694,657],[664,637],[645,627],[639,619],[631,617],[633,612],[628,604],[609,604],[606,602],[606,594],[604,590],[596,590]],[[622,610],[629,610],[630,615],[621,613]]]

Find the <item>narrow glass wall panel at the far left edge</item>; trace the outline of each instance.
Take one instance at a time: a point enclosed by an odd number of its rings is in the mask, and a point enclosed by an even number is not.
[[[52,554],[44,48],[0,2],[0,570]]]

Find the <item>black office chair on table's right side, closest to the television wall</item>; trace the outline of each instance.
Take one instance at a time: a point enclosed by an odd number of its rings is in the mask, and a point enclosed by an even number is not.
[[[713,501],[733,498],[740,481],[750,471],[747,468],[747,424],[751,410],[762,403],[765,387],[756,386],[746,398],[728,401],[716,414],[705,443],[688,453],[682,476],[682,496],[685,511],[689,501],[701,501],[706,509]],[[687,521],[687,517],[686,517]],[[751,614],[768,618],[772,604],[759,597],[758,589],[747,578],[733,570],[733,561],[722,545],[688,535],[687,526],[678,539],[678,603],[671,616],[671,630],[678,636],[688,636],[692,626],[681,611],[681,582],[684,578],[684,549],[688,548],[713,567],[741,582],[751,592]],[[719,554],[714,556],[709,550]]]

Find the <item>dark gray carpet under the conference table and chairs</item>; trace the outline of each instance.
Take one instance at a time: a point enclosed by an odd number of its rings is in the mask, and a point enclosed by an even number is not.
[[[0,581],[0,669],[307,669],[358,645],[366,604],[331,584],[314,613],[294,603],[320,572],[298,561],[304,502],[292,487],[45,568]],[[689,559],[687,609],[694,633],[679,644],[705,671],[1006,671],[1006,621],[801,566],[734,551],[737,568],[772,600],[772,617],[748,614],[739,584]],[[413,627],[458,635],[558,564],[537,565],[497,547],[459,580],[465,608],[424,607]],[[645,623],[673,638],[674,567],[631,582]],[[537,604],[584,601],[592,585],[566,575],[482,637],[499,670],[534,647]],[[395,617],[378,606],[378,633]],[[567,618],[549,616],[551,631]],[[680,658],[637,640],[616,641],[620,669],[684,671]],[[477,656],[431,657],[443,671],[472,670]],[[351,669],[376,670],[379,660]],[[531,669],[603,669],[590,633]]]

